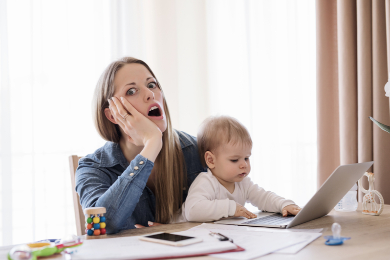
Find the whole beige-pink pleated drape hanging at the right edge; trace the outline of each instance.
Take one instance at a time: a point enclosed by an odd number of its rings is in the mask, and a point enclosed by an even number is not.
[[[374,160],[369,170],[387,204],[390,134],[368,117],[390,125],[384,91],[389,71],[389,6],[390,0],[316,3],[318,186],[340,164]]]

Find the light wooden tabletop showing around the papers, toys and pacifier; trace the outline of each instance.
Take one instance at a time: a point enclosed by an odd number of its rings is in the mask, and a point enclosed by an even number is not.
[[[390,260],[390,205],[380,216],[369,216],[361,213],[361,203],[354,212],[332,210],[327,216],[306,222],[293,228],[325,228],[322,237],[307,245],[295,255],[270,254],[261,260]],[[327,246],[323,236],[332,235],[331,225],[338,222],[342,226],[341,235],[351,237],[343,245]],[[183,222],[154,227],[130,229],[108,238],[145,235],[153,232],[184,231],[201,223]],[[0,247],[0,259],[6,259],[12,246]],[[65,259],[62,255],[48,259]],[[211,256],[184,258],[184,260],[218,260]]]

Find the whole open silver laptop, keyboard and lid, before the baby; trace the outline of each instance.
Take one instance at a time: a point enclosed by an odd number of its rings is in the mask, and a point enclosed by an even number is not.
[[[217,224],[290,228],[326,216],[372,166],[373,161],[340,165],[323,183],[314,196],[296,215],[282,217],[279,213],[260,212],[255,219],[234,217],[215,221]],[[273,220],[275,219],[275,220]]]

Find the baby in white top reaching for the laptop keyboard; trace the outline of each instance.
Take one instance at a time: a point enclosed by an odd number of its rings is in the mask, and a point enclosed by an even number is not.
[[[207,222],[230,216],[256,218],[243,207],[245,202],[259,210],[296,215],[300,207],[254,184],[250,173],[252,140],[247,129],[228,116],[205,120],[197,136],[201,162],[208,167],[190,186],[182,205],[188,221]]]

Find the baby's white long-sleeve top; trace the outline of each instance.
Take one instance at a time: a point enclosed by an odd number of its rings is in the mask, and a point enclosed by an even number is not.
[[[208,222],[234,216],[236,202],[243,206],[245,202],[250,202],[259,210],[278,213],[282,213],[285,206],[295,204],[292,200],[265,191],[249,177],[235,182],[235,190],[231,194],[208,169],[208,172],[200,173],[190,186],[182,205],[180,221]]]

